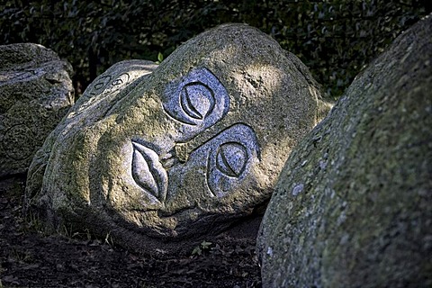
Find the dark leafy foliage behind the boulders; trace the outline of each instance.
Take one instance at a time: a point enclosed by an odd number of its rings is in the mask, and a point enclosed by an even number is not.
[[[430,12],[430,0],[1,0],[0,44],[54,49],[73,65],[78,96],[117,61],[157,61],[215,25],[248,23],[300,57],[336,98],[401,31]]]

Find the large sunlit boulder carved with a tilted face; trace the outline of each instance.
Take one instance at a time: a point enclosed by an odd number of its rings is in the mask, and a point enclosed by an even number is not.
[[[158,67],[125,61],[96,78],[34,157],[27,203],[53,229],[190,253],[268,202],[328,108],[298,58],[247,25],[223,25]]]

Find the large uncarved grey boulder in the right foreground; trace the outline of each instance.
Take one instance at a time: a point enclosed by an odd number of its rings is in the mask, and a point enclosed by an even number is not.
[[[432,285],[432,17],[293,149],[258,236],[264,287]]]

